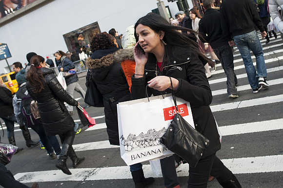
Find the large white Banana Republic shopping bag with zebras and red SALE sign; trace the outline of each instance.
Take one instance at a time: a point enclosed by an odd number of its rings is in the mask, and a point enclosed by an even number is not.
[[[190,103],[176,98],[179,113],[194,127]],[[173,154],[161,142],[173,120],[176,107],[172,95],[150,97],[117,104],[121,158],[127,165]]]

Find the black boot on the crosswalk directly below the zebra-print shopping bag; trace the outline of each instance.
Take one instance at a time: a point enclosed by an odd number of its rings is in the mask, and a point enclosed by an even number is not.
[[[147,188],[147,186],[153,184],[154,178],[144,178],[143,170],[132,171],[132,177],[135,182],[135,188]]]

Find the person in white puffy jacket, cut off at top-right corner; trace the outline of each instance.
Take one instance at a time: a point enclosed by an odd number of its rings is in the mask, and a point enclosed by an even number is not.
[[[273,23],[279,29],[281,33],[281,37],[283,37],[283,18],[282,18],[282,11],[283,11],[283,0],[269,0],[269,14],[273,19]],[[281,11],[279,11],[279,8]],[[280,16],[281,15],[281,16]]]

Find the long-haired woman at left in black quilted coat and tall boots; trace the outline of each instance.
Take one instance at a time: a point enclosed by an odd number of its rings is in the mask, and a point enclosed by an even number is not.
[[[44,58],[40,55],[34,55],[31,58],[31,67],[26,79],[28,93],[38,102],[41,123],[46,135],[59,135],[61,139],[62,149],[56,167],[65,174],[71,175],[66,165],[68,156],[73,161],[74,168],[84,160],[84,157],[78,158],[72,147],[75,138],[75,122],[64,102],[72,106],[78,106],[79,103],[63,89],[54,70],[45,68]]]

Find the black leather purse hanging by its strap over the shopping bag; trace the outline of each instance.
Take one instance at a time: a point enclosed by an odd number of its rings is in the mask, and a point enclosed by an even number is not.
[[[170,81],[173,88],[171,78]],[[174,91],[172,97],[178,112]],[[191,167],[197,166],[205,149],[209,146],[209,140],[184,120],[179,112],[174,116],[160,141],[169,150],[188,162]]]

